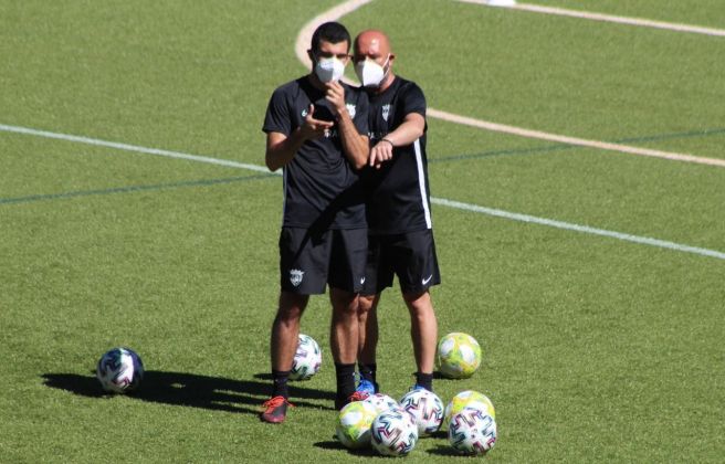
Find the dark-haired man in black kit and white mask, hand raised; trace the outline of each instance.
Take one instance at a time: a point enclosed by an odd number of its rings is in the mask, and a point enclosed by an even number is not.
[[[350,35],[322,24],[308,51],[313,71],[274,91],[264,118],[265,161],[283,168],[280,234],[281,293],[271,336],[273,393],[262,420],[284,421],[287,379],[300,319],[309,295],[329,285],[330,348],[337,371],[336,407],[355,393],[358,293],[365,282],[367,229],[358,170],[368,155],[368,98],[339,82]]]

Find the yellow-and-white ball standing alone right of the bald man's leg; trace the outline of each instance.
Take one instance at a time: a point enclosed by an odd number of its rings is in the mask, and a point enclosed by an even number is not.
[[[481,365],[481,347],[467,334],[453,333],[438,344],[438,369],[451,379],[466,379]]]

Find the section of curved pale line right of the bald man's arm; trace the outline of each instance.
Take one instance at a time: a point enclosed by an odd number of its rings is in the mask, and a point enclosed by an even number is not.
[[[544,133],[540,130],[525,129],[523,127],[491,123],[483,119],[474,119],[472,117],[460,116],[433,108],[428,109],[428,115],[437,117],[439,119],[448,120],[449,123],[463,124],[471,127],[477,127],[480,129],[512,134],[521,137],[537,138],[542,140],[557,141],[566,145],[576,145],[579,147],[598,148],[601,150],[619,151],[629,155],[649,156],[653,158],[670,159],[674,161],[695,162],[698,165],[717,166],[721,168],[725,168],[725,159],[705,158],[705,157],[700,157],[689,154],[653,150],[650,148],[632,147],[629,145],[612,144],[608,141],[587,140],[584,138],[569,137],[569,136],[557,135],[557,134]]]

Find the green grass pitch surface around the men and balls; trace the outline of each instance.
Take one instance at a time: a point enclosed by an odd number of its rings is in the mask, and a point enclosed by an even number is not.
[[[533,1],[725,29],[717,0]],[[377,460],[333,440],[324,296],[303,319],[323,370],[294,384],[283,425],[258,419],[280,177],[148,152],[262,166],[267,99],[306,72],[295,39],[336,4],[0,0],[0,462]],[[443,0],[342,21],[387,30],[432,108],[725,159],[725,38]],[[725,168],[435,118],[428,154],[432,196],[467,205],[433,205],[440,333],[485,351],[435,390],[493,400],[486,458],[722,462]],[[397,289],[380,318],[378,377],[400,397],[414,363]],[[147,376],[106,397],[93,369],[120,345]],[[442,437],[407,460],[455,462]]]

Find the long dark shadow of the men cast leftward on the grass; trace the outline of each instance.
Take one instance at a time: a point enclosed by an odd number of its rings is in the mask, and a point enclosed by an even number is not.
[[[95,376],[77,373],[44,373],[48,387],[66,390],[91,398],[106,398]],[[255,376],[256,377],[256,376]],[[220,377],[198,376],[186,372],[148,370],[137,391],[127,396],[155,403],[209,409],[213,411],[259,414],[262,402],[269,399],[269,381],[232,380]],[[291,401],[296,407],[334,410],[335,393],[317,389],[290,386]],[[329,405],[319,405],[305,400],[326,400]]]

